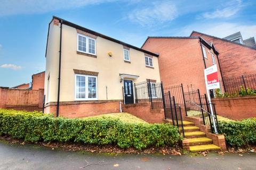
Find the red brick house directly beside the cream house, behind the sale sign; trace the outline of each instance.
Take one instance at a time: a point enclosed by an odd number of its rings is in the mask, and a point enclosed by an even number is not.
[[[182,83],[184,90],[206,93],[204,69],[218,65],[218,52],[201,37],[148,37],[143,49],[158,53],[159,71],[164,86]]]

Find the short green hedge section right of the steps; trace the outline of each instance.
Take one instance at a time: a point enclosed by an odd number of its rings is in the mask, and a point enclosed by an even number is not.
[[[256,118],[242,121],[219,122],[220,133],[225,135],[228,145],[244,147],[256,145]]]

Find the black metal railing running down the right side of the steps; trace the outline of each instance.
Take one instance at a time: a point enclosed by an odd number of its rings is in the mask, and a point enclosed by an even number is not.
[[[187,109],[187,116],[201,117],[204,125],[210,125],[214,132],[214,123],[217,131],[219,129],[215,105],[209,104],[206,94],[200,95],[199,89],[184,93]],[[212,106],[212,109],[211,109]],[[213,113],[213,116],[212,114]]]

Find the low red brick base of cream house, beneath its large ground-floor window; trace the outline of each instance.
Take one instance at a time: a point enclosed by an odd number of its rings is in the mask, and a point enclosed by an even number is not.
[[[119,113],[119,102],[117,100],[60,102],[59,116],[78,118],[107,113]],[[56,107],[56,103],[46,104],[44,113],[56,114]]]

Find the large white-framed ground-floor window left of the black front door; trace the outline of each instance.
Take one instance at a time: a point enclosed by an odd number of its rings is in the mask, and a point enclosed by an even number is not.
[[[97,76],[75,74],[75,99],[97,100],[98,86]]]

